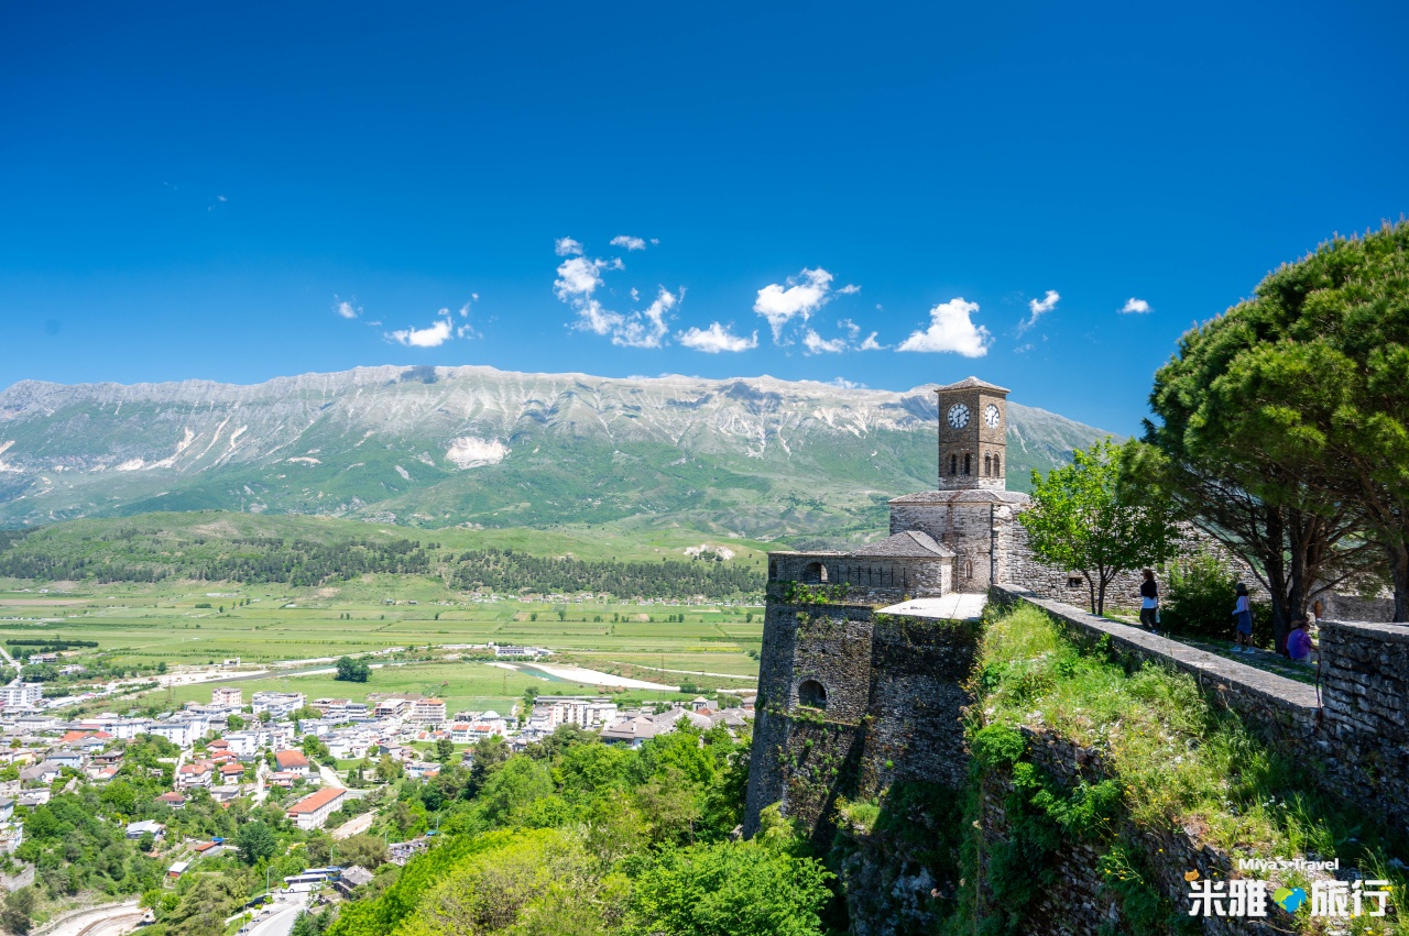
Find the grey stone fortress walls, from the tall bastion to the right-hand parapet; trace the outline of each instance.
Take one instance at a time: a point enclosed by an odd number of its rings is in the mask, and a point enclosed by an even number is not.
[[[971,381],[955,384],[964,393],[950,400],[969,400]],[[938,391],[941,419],[947,391]],[[982,391],[974,407],[1006,394]],[[941,431],[941,467],[961,448],[1002,457],[993,432],[960,436]],[[1036,562],[1017,522],[1027,495],[996,480],[964,486],[941,476],[945,490],[893,500],[890,538],[852,553],[769,555],[745,835],[765,807],[781,804],[824,845],[838,798],[875,797],[907,778],[965,784],[964,681],[978,622],[886,612],[954,591],[1031,601],[1074,633],[1109,635],[1130,659],[1193,674],[1267,738],[1323,764],[1327,790],[1409,830],[1409,629],[1323,624],[1319,700],[1315,687],[1075,607],[1088,600],[1085,578]],[[1137,605],[1138,583],[1138,573],[1112,583],[1107,604]]]

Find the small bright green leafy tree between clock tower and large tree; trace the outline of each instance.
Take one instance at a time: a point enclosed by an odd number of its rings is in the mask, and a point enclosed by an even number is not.
[[[1033,555],[1086,578],[1092,614],[1105,612],[1116,576],[1165,562],[1178,543],[1171,504],[1160,488],[1126,483],[1119,455],[1106,439],[1045,477],[1033,472],[1033,505],[1019,514]]]

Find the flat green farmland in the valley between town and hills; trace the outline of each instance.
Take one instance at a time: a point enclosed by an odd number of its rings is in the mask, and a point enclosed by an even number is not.
[[[244,604],[245,600],[249,604]],[[197,608],[199,604],[213,607]],[[666,621],[672,615],[678,619]],[[748,615],[752,615],[751,622]],[[247,698],[271,688],[302,691],[309,698],[355,700],[418,692],[445,698],[451,712],[507,711],[530,685],[542,692],[592,692],[596,685],[447,660],[447,654],[457,653],[445,649],[447,645],[528,643],[554,650],[554,663],[668,685],[695,683],[709,688],[744,688],[758,674],[754,656],[762,643],[762,609],[614,601],[475,602],[435,578],[416,576],[368,576],[318,588],[85,583],[59,584],[46,593],[34,583],[0,581],[0,640],[35,638],[99,645],[72,650],[61,663],[101,662],[144,673],[158,663],[165,663],[170,673],[180,673],[179,667],[204,669],[240,657],[241,669],[251,670],[287,660],[404,647],[409,652],[399,654],[396,664],[375,669],[365,684],[340,683],[331,674],[294,676],[325,669],[325,663],[276,670],[256,678],[232,673],[230,683],[241,685]],[[406,660],[409,656],[413,659]],[[169,701],[179,705],[209,700],[211,687],[221,684],[225,683],[178,685],[151,692],[139,704]],[[79,691],[82,684],[70,688]],[[633,690],[630,695],[641,697],[643,692]],[[99,708],[123,709],[125,705],[106,700],[75,711]]]

